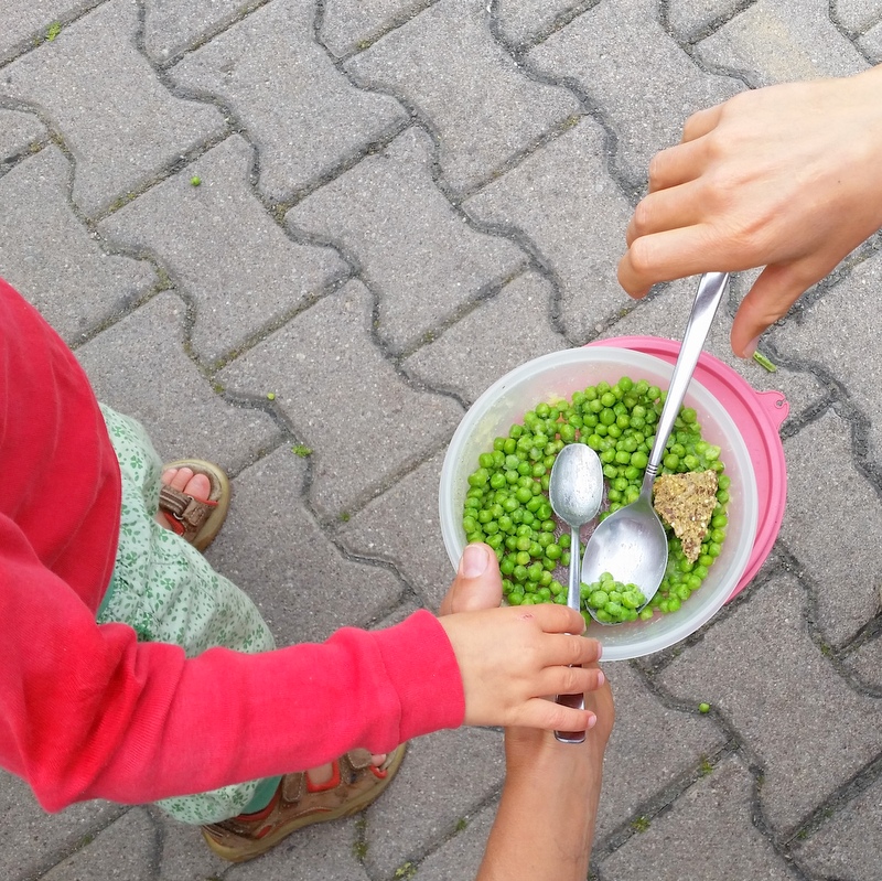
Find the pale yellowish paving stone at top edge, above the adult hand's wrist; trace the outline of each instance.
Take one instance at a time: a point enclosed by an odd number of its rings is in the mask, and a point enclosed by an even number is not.
[[[867,67],[836,29],[827,0],[810,0],[799,15],[788,0],[757,0],[698,44],[708,64],[750,72],[752,86],[848,76]]]

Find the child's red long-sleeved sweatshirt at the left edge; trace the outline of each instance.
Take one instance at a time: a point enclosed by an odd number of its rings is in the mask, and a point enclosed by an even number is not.
[[[98,625],[119,506],[88,379],[0,279],[0,765],[47,810],[205,792],[462,723],[459,667],[428,612],[190,660]]]

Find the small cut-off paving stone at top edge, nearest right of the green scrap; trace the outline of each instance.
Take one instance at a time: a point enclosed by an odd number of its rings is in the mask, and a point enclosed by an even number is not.
[[[146,0],[147,54],[161,64],[234,21],[245,9],[241,0]]]

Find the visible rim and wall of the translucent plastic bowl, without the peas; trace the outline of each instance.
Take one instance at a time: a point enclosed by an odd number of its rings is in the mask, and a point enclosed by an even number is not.
[[[469,409],[453,433],[441,469],[439,511],[444,548],[454,569],[465,547],[462,512],[467,477],[477,468],[477,456],[493,449],[497,437],[507,437],[514,422],[540,401],[552,404],[573,391],[622,376],[646,379],[667,388],[671,364],[628,348],[594,346],[569,348],[534,358],[494,383]],[[733,593],[751,559],[759,502],[750,454],[735,423],[722,405],[692,379],[686,406],[693,407],[704,440],[719,444],[720,459],[731,480],[729,528],[722,552],[711,566],[701,588],[676,612],[656,614],[652,621],[602,626],[587,631],[603,644],[604,660],[625,660],[659,652],[685,640],[709,621]],[[563,580],[566,584],[566,578]]]

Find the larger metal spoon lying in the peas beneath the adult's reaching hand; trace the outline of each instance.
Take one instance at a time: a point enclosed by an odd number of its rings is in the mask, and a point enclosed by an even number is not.
[[[708,272],[701,277],[658,420],[641,494],[600,523],[585,548],[582,581],[592,584],[603,572],[610,572],[616,581],[636,584],[646,598],[641,609],[646,608],[658,590],[668,562],[667,535],[653,508],[653,483],[728,281],[728,272]]]

